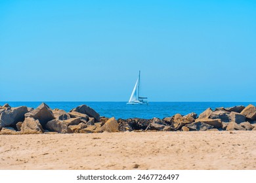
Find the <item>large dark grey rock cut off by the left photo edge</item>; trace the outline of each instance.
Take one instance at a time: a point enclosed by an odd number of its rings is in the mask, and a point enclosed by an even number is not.
[[[25,106],[22,107],[12,107],[10,110],[5,110],[1,112],[0,115],[0,128],[16,125],[18,122],[24,121],[24,114],[28,112],[28,108]]]

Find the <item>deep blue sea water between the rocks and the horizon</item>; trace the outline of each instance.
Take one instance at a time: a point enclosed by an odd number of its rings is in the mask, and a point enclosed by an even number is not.
[[[38,107],[41,102],[0,102],[0,105],[9,103],[11,107],[27,106]],[[60,108],[67,112],[72,108],[85,104],[94,108],[100,116],[115,118],[164,118],[174,114],[188,114],[196,112],[200,114],[208,107],[232,107],[235,105],[247,106],[247,102],[151,102],[150,105],[126,105],[126,102],[45,102],[51,108]],[[256,103],[251,103],[256,105]]]

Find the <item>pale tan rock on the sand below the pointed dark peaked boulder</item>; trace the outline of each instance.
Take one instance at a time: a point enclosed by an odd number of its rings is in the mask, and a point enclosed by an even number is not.
[[[35,134],[35,133],[43,133],[43,127],[39,123],[39,120],[35,120],[34,118],[27,117],[25,118],[22,126],[20,127],[20,132],[23,134]]]

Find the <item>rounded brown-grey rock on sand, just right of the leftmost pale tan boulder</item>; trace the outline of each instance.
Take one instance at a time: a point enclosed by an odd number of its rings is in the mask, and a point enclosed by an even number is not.
[[[58,133],[73,133],[73,131],[61,120],[51,120],[45,125],[49,131],[56,131]]]

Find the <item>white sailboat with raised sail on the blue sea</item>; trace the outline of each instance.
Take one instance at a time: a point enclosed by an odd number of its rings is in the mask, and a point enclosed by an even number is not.
[[[139,71],[139,77],[135,83],[135,86],[133,88],[133,92],[131,92],[131,97],[129,99],[129,102],[127,104],[130,105],[136,105],[136,104],[146,104],[148,105],[148,101],[144,100],[148,99],[147,97],[140,97],[140,71]]]

